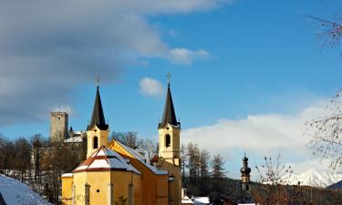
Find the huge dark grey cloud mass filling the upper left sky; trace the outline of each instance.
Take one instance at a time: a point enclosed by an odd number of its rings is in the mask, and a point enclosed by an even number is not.
[[[180,64],[205,51],[162,40],[150,15],[189,14],[230,0],[14,0],[0,6],[0,126],[42,120],[73,103],[73,91],[99,74],[115,81],[127,65],[163,58]],[[20,14],[20,15],[18,15]],[[168,28],[172,29],[172,28]],[[176,54],[174,54],[176,53]],[[203,55],[204,54],[204,55]]]

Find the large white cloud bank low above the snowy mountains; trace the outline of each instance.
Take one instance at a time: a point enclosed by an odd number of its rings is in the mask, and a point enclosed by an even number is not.
[[[242,119],[220,119],[217,123],[200,128],[187,128],[181,133],[182,142],[196,142],[200,147],[221,153],[227,160],[229,176],[239,178],[244,149],[250,159],[253,177],[255,165],[264,164],[264,156],[281,154],[282,164],[292,164],[296,173],[318,168],[322,163],[312,160],[311,149],[306,147],[310,138],[304,136],[305,122],[326,115],[327,100],[317,100],[293,115],[250,115]],[[324,163],[326,169],[328,165]],[[308,167],[310,166],[310,167]]]

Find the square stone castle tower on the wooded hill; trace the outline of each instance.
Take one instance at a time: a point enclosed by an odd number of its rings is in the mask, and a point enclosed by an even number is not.
[[[68,137],[67,121],[66,112],[57,111],[50,113],[51,143],[61,143]]]

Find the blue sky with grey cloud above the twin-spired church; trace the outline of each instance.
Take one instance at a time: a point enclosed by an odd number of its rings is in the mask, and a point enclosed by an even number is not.
[[[74,130],[85,129],[97,74],[102,77],[100,91],[110,129],[137,131],[141,138],[153,139],[165,93],[141,91],[144,77],[161,83],[165,91],[165,76],[171,73],[176,115],[188,139],[192,137],[187,130],[220,120],[295,118],[341,87],[340,47],[322,50],[316,38],[319,29],[300,16],[334,19],[342,5],[338,1],[146,1],[146,6],[128,2],[119,9],[109,2],[75,1],[70,11],[63,1],[3,7],[21,11],[24,17],[0,9],[0,26],[5,29],[0,34],[0,70],[5,74],[0,77],[0,133],[8,138],[48,136],[48,112],[58,106],[72,108],[69,122]],[[67,14],[44,12],[53,7]],[[208,140],[215,136],[208,135]],[[223,153],[232,176],[237,176],[239,156],[248,150],[243,145],[228,146]],[[254,163],[269,153],[253,152]],[[295,158],[294,154],[285,161],[296,163]]]

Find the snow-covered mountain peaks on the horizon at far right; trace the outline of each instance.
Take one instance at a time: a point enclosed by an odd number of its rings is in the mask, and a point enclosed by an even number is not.
[[[308,169],[302,174],[292,174],[283,177],[286,184],[300,185],[326,188],[337,181],[342,180],[342,174],[333,173],[331,171],[317,171],[316,169]]]

